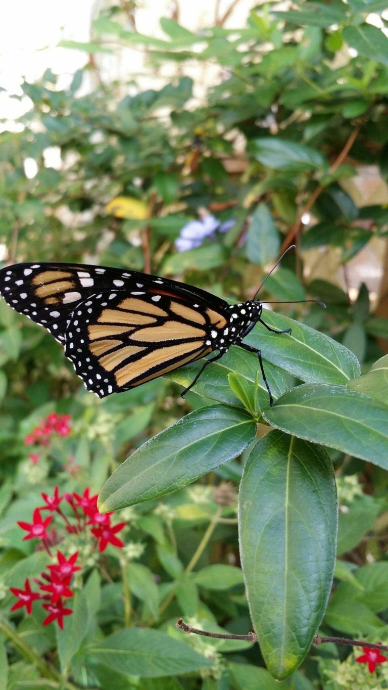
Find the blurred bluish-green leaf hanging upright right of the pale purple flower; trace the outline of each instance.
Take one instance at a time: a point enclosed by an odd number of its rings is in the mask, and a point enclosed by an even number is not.
[[[246,254],[254,264],[267,264],[278,253],[280,238],[276,225],[265,204],[258,204],[248,228]]]

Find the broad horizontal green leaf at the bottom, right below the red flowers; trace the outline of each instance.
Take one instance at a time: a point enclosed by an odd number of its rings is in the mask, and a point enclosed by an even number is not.
[[[88,649],[88,658],[99,664],[141,678],[174,676],[207,669],[212,662],[187,644],[159,630],[119,630]]]

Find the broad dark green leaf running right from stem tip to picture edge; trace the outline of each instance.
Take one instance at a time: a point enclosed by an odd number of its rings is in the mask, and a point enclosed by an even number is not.
[[[388,469],[387,407],[347,386],[297,386],[263,417],[283,431]]]

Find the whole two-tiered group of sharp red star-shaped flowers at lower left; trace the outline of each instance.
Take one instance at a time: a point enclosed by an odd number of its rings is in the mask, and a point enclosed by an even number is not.
[[[59,487],[55,486],[52,495],[42,493],[42,497],[44,505],[34,509],[32,522],[17,523],[26,532],[23,541],[39,540],[38,548],[45,549],[50,557],[52,546],[59,543],[62,544],[62,548],[65,547],[63,551],[67,549],[69,553],[74,551],[74,542],[79,549],[68,559],[62,551],[57,551],[57,562],[47,566],[48,573],[41,573],[41,579],[34,580],[39,584],[39,593],[31,590],[28,578],[25,580],[24,590],[11,587],[12,594],[19,598],[19,602],[14,604],[11,611],[25,606],[27,612],[31,613],[32,603],[39,599],[44,602],[43,608],[48,611],[43,625],[57,620],[62,628],[63,616],[72,613],[72,609],[65,607],[65,600],[73,595],[70,589],[73,573],[81,570],[81,566],[76,565],[79,553],[85,556],[90,555],[92,551],[96,554],[102,553],[108,544],[123,548],[124,544],[117,533],[126,523],[112,524],[112,513],[101,515],[97,509],[97,495],[90,495],[89,487],[82,494],[74,491],[60,495]],[[44,516],[44,511],[48,511],[49,514]],[[71,543],[66,543],[66,539],[68,542],[71,540]],[[85,562],[90,564],[90,561]]]

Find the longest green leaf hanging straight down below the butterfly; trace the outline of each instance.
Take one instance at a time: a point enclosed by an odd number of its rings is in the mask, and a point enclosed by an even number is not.
[[[336,529],[334,471],[325,449],[269,432],[245,464],[239,538],[258,643],[280,680],[303,660],[323,618]]]

